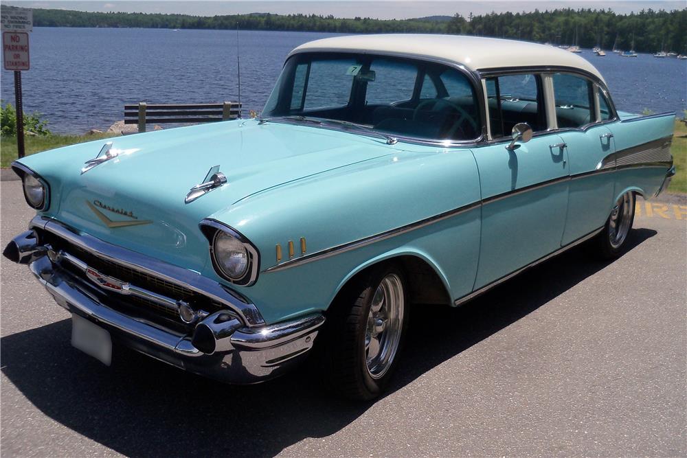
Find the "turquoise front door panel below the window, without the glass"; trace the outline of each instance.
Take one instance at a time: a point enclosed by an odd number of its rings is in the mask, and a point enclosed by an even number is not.
[[[475,148],[482,185],[482,238],[475,289],[561,246],[568,193],[567,151],[558,135]]]

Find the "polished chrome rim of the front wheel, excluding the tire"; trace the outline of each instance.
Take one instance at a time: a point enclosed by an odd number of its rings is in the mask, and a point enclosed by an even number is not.
[[[374,379],[383,377],[394,361],[401,342],[404,312],[403,282],[390,273],[374,292],[365,330],[365,362]]]

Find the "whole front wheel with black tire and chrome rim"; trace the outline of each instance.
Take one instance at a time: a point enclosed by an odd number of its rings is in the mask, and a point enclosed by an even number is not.
[[[372,268],[330,311],[324,352],[330,385],[354,400],[376,398],[391,378],[407,328],[403,272],[393,265]]]

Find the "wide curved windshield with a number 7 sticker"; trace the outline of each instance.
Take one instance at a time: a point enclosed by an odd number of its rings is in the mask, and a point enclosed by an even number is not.
[[[433,140],[471,140],[482,131],[477,98],[463,73],[367,54],[296,54],[284,65],[262,117],[329,119]]]

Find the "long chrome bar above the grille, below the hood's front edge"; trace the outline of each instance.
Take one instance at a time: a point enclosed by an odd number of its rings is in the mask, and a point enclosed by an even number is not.
[[[157,260],[125,249],[116,245],[103,242],[87,233],[76,233],[63,222],[54,219],[45,220],[42,216],[35,216],[31,220],[30,227],[39,227],[44,231],[54,233],[72,244],[99,257],[104,257],[117,264],[123,264],[137,271],[142,271],[153,277],[159,277],[168,282],[176,283],[190,290],[196,291],[210,299],[214,299],[228,308],[234,310],[243,321],[251,326],[264,324],[262,314],[254,304],[241,301],[240,296],[233,293],[227,287],[212,279],[203,277],[200,273],[186,268],[174,266],[167,262]]]

